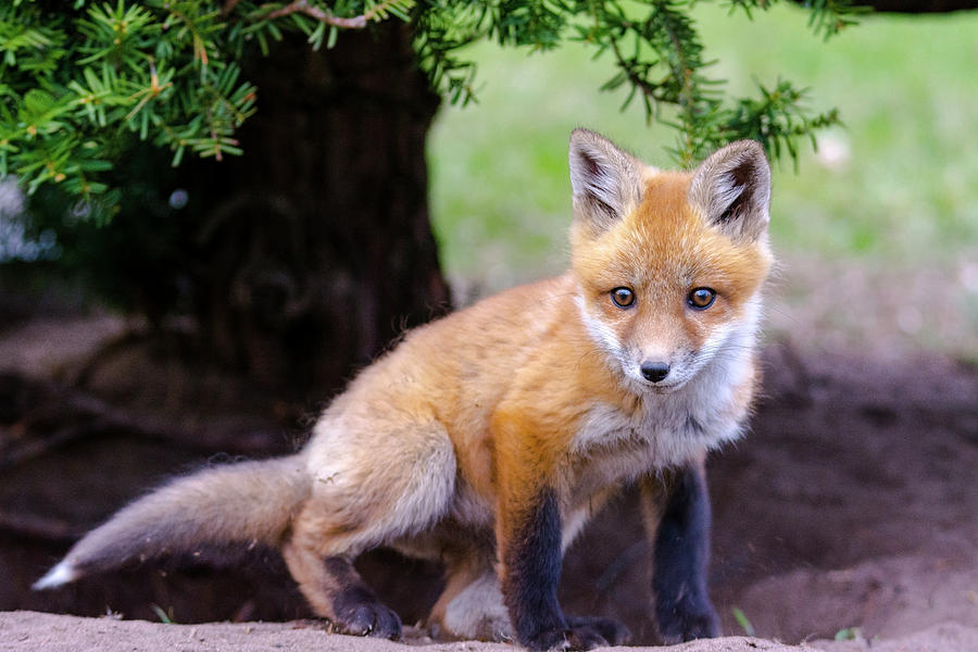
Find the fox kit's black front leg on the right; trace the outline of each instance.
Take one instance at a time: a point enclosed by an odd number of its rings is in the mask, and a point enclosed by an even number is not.
[[[710,494],[702,464],[647,477],[642,502],[654,541],[652,585],[655,620],[666,643],[719,636],[719,618],[706,589],[710,561]]]

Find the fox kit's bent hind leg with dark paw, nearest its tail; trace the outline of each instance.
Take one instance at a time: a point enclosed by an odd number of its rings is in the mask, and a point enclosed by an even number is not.
[[[444,514],[455,456],[437,423],[397,431],[371,425],[322,434],[311,448],[312,492],[292,521],[283,556],[313,610],[340,630],[398,638],[400,618],[352,562],[365,550],[425,531]]]

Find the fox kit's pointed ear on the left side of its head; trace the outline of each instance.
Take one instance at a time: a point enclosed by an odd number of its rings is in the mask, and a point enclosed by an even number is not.
[[[587,129],[570,133],[574,216],[593,235],[606,231],[642,199],[645,165],[611,140]]]

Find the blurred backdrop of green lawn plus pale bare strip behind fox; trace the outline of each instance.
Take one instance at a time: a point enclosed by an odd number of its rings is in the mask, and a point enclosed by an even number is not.
[[[978,15],[866,16],[820,42],[807,14],[694,11],[734,92],[779,77],[844,127],[774,165],[781,262],[767,334],[873,355],[978,355]],[[567,134],[586,126],[660,167],[675,135],[624,92],[594,92],[607,60],[567,45],[476,51],[478,104],[446,106],[428,142],[432,220],[456,289],[481,293],[563,269]],[[478,179],[473,183],[473,179]]]

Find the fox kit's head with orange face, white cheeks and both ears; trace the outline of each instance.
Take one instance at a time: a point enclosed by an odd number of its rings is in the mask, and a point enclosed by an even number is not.
[[[581,318],[616,371],[664,393],[712,361],[750,354],[772,264],[770,168],[758,143],[664,172],[576,129],[570,184]]]

